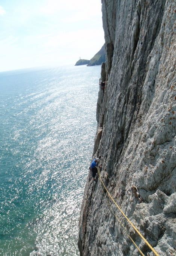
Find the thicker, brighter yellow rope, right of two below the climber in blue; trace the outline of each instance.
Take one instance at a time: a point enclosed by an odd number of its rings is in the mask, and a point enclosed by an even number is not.
[[[97,167],[97,170],[98,170],[98,174],[99,174],[99,177],[100,177],[100,170],[99,168]],[[148,247],[153,251],[153,253],[156,255],[156,256],[160,256],[157,251],[155,251],[155,249],[149,244],[149,242],[143,237],[143,235],[139,232],[139,230],[134,226],[134,224],[128,219],[128,217],[124,214],[124,212],[121,210],[121,208],[118,206],[118,204],[115,202],[115,200],[112,198],[111,194],[109,193],[109,191],[107,190],[106,186],[104,185],[101,177],[100,177],[100,181],[101,183],[103,184],[103,187],[105,188],[105,190],[107,191],[110,199],[113,201],[113,203],[115,203],[115,205],[117,206],[117,208],[119,209],[119,211],[121,212],[121,214],[127,219],[127,221],[131,224],[131,226],[133,227],[133,229],[138,233],[138,235],[143,239],[143,241],[145,241],[146,245],[148,245]]]

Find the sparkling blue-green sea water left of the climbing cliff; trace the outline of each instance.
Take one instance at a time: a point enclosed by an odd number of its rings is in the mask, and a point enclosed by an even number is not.
[[[100,69],[0,73],[0,255],[79,255]]]

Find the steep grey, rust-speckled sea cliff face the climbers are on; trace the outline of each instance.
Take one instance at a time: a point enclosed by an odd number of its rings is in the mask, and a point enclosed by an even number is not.
[[[101,2],[108,82],[98,94],[93,154],[103,156],[101,177],[128,218],[159,255],[175,255],[175,1]],[[80,254],[139,255],[128,232],[145,255],[153,255],[100,184],[89,174]]]

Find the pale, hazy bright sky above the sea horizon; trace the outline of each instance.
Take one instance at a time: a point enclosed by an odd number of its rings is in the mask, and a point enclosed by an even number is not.
[[[101,0],[0,0],[0,72],[75,65],[104,44]]]

